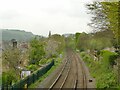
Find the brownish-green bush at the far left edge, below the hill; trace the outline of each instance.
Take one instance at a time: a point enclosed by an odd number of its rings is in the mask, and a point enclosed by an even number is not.
[[[14,69],[16,72],[18,71],[17,67],[20,65],[20,51],[17,48],[14,50],[5,50],[2,54],[2,59],[3,71],[6,69]]]

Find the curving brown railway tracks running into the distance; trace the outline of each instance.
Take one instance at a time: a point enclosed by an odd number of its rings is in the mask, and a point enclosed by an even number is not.
[[[68,51],[65,65],[55,81],[49,87],[49,90],[54,88],[87,89],[87,77],[83,63],[77,54],[71,50]]]

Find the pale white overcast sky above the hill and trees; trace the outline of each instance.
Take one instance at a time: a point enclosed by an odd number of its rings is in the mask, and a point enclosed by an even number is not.
[[[92,0],[0,0],[0,28],[47,36],[89,32],[86,3]]]

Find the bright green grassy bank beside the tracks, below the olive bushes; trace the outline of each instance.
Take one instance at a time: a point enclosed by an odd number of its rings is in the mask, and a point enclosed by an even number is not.
[[[81,52],[80,56],[89,67],[92,77],[96,79],[97,88],[116,88],[117,86],[117,71],[110,66],[109,57],[116,53],[102,51],[99,61],[94,61],[93,58],[86,52]]]

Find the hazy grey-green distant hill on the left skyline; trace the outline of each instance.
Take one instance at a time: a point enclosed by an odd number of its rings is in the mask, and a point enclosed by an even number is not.
[[[31,32],[26,32],[24,30],[13,30],[13,29],[0,29],[2,30],[2,40],[10,41],[16,39],[17,41],[29,41],[35,35]]]

